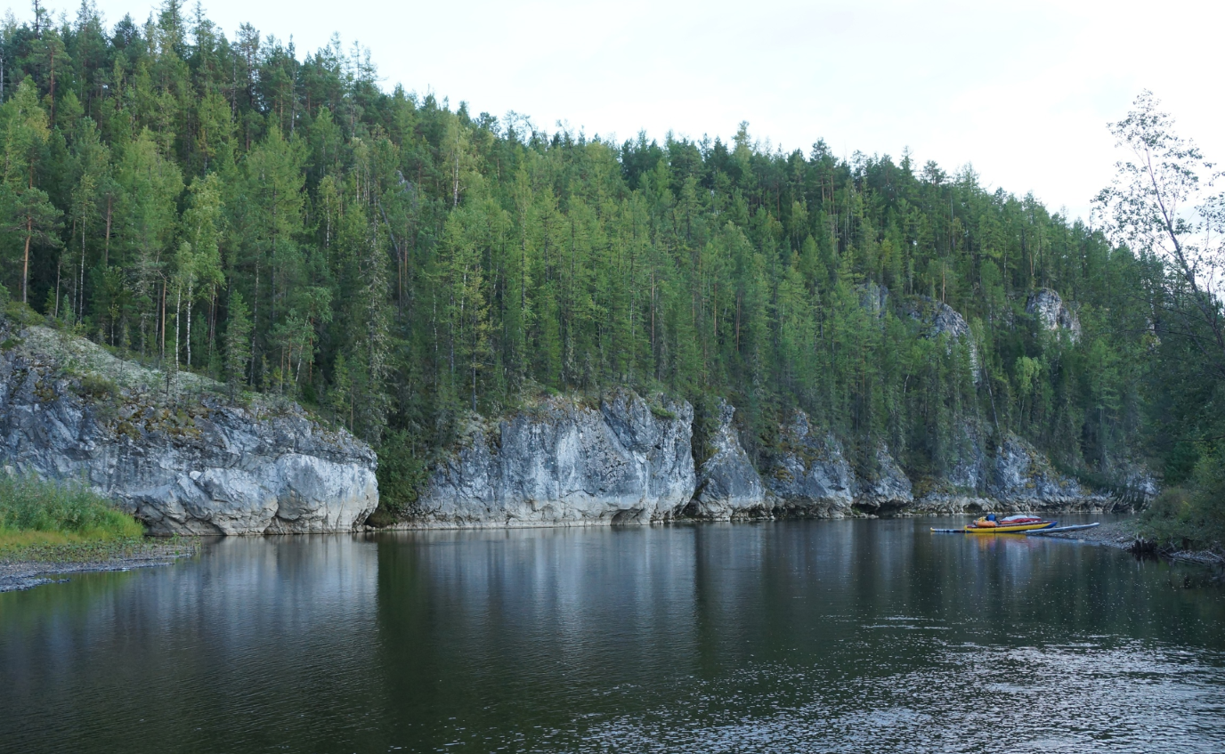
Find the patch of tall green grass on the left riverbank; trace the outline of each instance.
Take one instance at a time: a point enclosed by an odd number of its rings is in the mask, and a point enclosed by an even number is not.
[[[82,483],[0,474],[0,557],[123,548],[143,534],[140,521]]]

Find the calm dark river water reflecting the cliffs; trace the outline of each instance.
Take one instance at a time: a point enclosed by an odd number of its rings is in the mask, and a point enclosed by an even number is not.
[[[957,523],[218,540],[0,594],[0,750],[1225,750],[1205,572]]]

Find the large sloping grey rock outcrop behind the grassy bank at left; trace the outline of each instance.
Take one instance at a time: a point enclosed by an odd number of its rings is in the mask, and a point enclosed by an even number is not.
[[[83,480],[153,534],[350,531],[379,503],[374,450],[292,403],[229,406],[44,327],[0,342],[0,465]]]

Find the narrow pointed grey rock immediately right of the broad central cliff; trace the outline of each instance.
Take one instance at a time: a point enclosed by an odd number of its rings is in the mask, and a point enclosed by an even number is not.
[[[735,415],[728,401],[719,403],[719,427],[710,437],[713,453],[697,472],[697,493],[686,514],[702,519],[733,519],[766,514],[766,488],[748,454],[740,446]]]

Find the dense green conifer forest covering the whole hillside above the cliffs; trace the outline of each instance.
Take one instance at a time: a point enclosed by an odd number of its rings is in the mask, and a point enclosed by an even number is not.
[[[113,28],[36,2],[0,37],[0,295],[293,395],[404,479],[467,411],[612,384],[728,397],[755,454],[799,406],[919,477],[1006,432],[1101,479],[1145,448],[1158,257],[969,168],[546,133],[178,0]],[[1027,315],[1040,288],[1078,340]],[[968,335],[931,337],[941,302]]]

